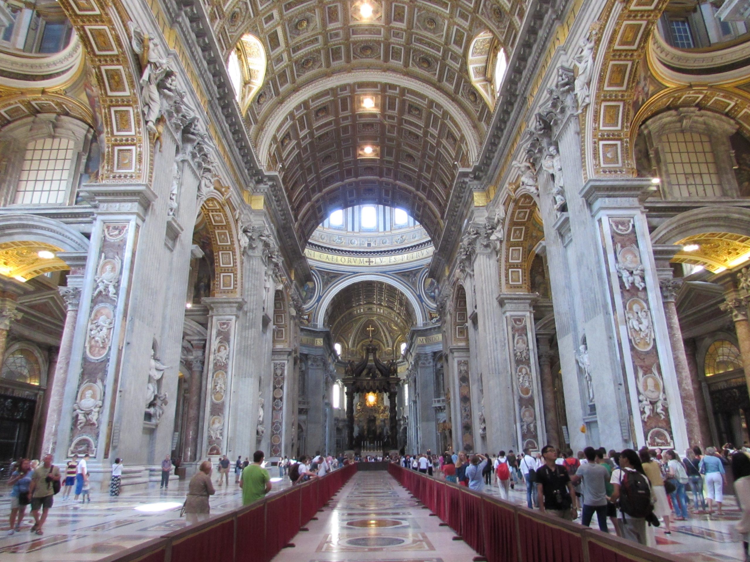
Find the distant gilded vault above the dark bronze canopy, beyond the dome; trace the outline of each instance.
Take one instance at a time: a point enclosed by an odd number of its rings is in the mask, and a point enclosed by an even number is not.
[[[385,282],[363,281],[334,297],[325,324],[333,339],[344,342],[348,350],[357,350],[372,333],[383,353],[390,355],[399,342],[406,340],[415,317],[406,295],[398,288]],[[374,329],[368,332],[368,327]]]

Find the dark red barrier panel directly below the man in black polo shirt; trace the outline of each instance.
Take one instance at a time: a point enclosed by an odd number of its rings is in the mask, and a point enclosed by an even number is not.
[[[580,535],[518,513],[524,562],[583,562]],[[598,561],[597,561],[598,562]]]

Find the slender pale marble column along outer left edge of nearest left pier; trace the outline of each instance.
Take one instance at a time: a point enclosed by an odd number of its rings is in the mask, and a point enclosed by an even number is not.
[[[78,287],[58,287],[62,300],[65,300],[65,324],[62,327],[62,338],[58,348],[55,375],[47,383],[46,396],[49,396],[42,438],[42,453],[55,454],[57,432],[62,413],[65,387],[68,384],[68,370],[71,366],[71,352],[73,351],[73,336],[76,331],[76,318],[80,303],[81,289]]]

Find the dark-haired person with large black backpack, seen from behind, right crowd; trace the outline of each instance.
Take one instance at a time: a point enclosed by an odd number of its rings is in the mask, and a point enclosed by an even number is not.
[[[621,537],[646,544],[646,520],[652,522],[651,485],[643,474],[638,453],[625,449],[619,453],[619,468],[612,471],[610,480],[614,492],[610,501],[619,502],[622,519],[619,521]],[[656,519],[658,524],[658,519]]]

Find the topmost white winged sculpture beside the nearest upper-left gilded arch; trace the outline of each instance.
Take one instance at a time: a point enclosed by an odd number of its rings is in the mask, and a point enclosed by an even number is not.
[[[143,117],[145,118],[145,127],[149,133],[154,133],[158,138],[159,131],[156,123],[161,117],[161,94],[159,91],[160,82],[173,73],[169,67],[169,61],[160,57],[158,54],[158,42],[151,40],[147,33],[135,22],[127,22],[130,33],[133,36],[130,44],[133,51],[139,55],[142,74],[140,78],[141,86],[141,103],[143,104]]]

